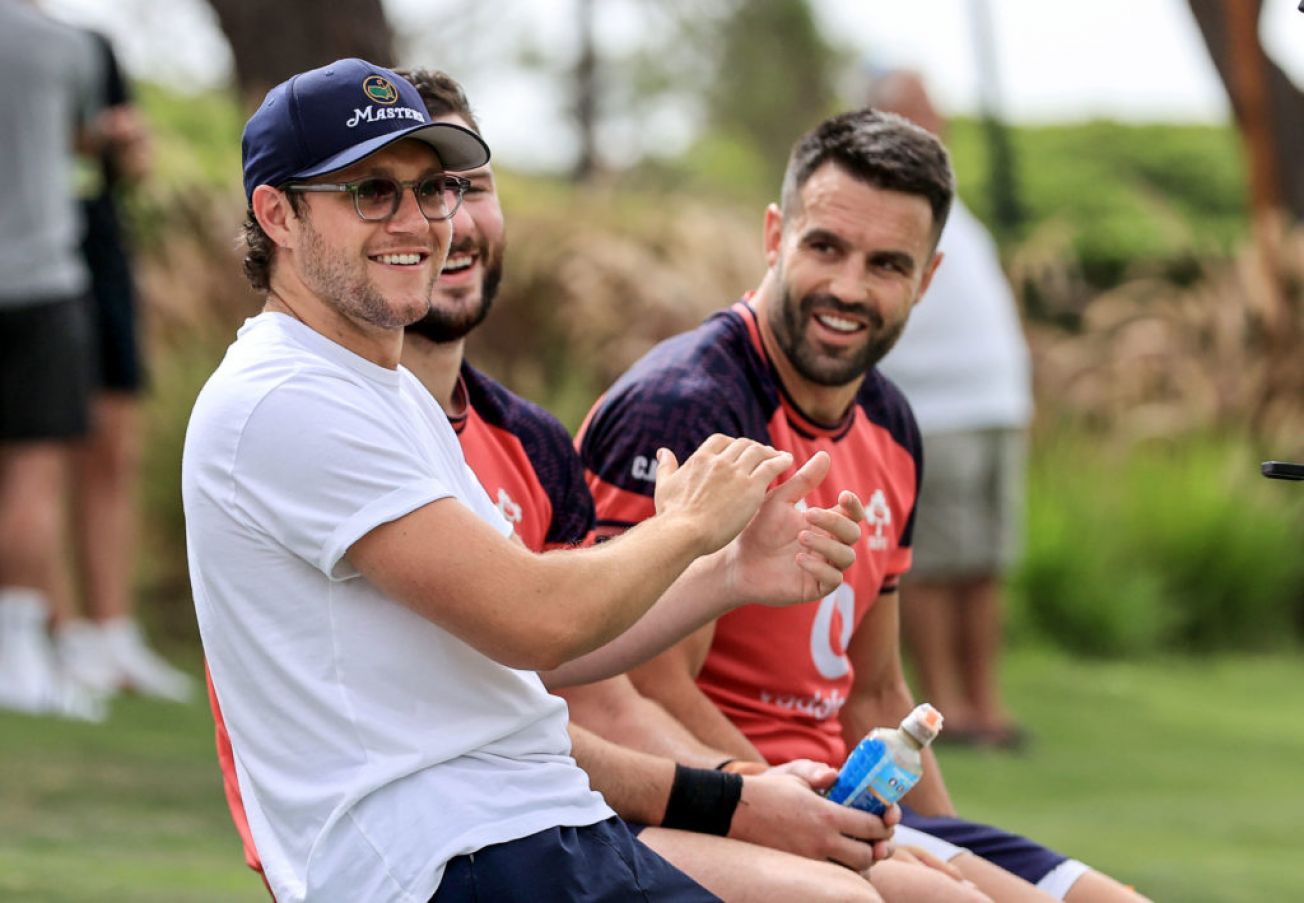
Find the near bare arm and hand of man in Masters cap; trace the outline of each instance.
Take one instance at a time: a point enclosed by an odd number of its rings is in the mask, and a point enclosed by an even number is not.
[[[683,466],[662,457],[659,514],[597,548],[531,555],[441,498],[377,526],[348,559],[387,596],[496,662],[559,668],[627,630],[695,559],[724,547],[792,463],[724,436]]]

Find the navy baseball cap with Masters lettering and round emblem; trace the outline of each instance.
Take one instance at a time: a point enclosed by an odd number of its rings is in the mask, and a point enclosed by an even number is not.
[[[434,147],[445,170],[489,162],[480,136],[452,123],[432,123],[421,94],[400,76],[366,60],[336,60],[301,72],[267,91],[245,123],[245,200],[258,185],[343,170],[400,138]]]

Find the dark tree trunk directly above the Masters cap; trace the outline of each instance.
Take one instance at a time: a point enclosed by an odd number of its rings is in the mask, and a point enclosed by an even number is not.
[[[296,72],[359,56],[394,64],[381,0],[209,0],[231,43],[236,84],[252,107]]]

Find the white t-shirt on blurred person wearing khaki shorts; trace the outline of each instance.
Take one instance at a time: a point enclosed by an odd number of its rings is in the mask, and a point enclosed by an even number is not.
[[[928,433],[1022,427],[1033,411],[1028,343],[996,244],[956,198],[945,257],[879,369]]]

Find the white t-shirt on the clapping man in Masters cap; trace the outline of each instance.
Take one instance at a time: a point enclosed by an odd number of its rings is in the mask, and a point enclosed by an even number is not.
[[[511,531],[409,372],[249,320],[196,401],[181,487],[200,633],[280,903],[425,903],[452,856],[612,814],[535,672],[343,557],[450,496]]]

